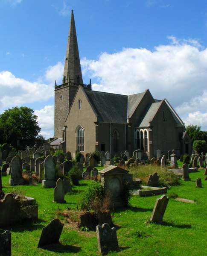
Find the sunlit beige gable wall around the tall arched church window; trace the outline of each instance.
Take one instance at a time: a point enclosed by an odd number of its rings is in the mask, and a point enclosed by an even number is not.
[[[78,102],[82,101],[81,109],[78,109]],[[71,106],[70,112],[66,120],[66,151],[72,153],[72,157],[76,153],[76,129],[82,126],[85,131],[84,140],[84,152],[90,153],[96,150],[96,116],[85,97],[83,89],[79,87],[79,90]]]

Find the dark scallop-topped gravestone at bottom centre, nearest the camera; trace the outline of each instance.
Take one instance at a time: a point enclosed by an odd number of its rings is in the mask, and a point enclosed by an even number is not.
[[[109,251],[118,251],[117,231],[115,227],[110,227],[108,223],[96,226],[96,236],[99,252],[107,254]]]

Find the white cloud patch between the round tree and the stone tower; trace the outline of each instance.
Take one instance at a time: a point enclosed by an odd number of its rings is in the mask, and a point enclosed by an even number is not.
[[[45,106],[43,109],[35,110],[38,116],[38,125],[41,127],[41,135],[51,138],[54,135],[54,106]]]

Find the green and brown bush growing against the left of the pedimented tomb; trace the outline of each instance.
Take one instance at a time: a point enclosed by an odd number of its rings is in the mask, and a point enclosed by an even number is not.
[[[81,208],[85,211],[102,212],[109,209],[109,196],[100,181],[93,181],[82,197]]]

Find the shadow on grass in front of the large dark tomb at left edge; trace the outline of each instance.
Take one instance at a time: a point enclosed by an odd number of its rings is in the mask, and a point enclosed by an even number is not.
[[[41,229],[43,227],[45,227],[45,223],[46,221],[43,221],[41,219],[38,219],[37,221],[21,221],[18,223],[14,223],[11,225],[8,225],[6,227],[4,227],[4,229],[6,228],[9,231],[12,232],[24,232],[26,231],[32,231],[32,230],[38,230]]]

